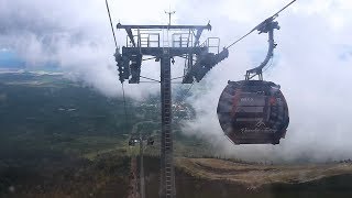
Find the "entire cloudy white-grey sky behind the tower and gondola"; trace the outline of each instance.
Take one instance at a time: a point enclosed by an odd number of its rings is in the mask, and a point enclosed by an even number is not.
[[[176,10],[173,24],[207,24],[221,46],[245,34],[289,0],[110,0],[114,24],[167,24],[164,10]],[[312,160],[352,158],[351,74],[352,1],[298,0],[277,18],[278,44],[266,80],[282,86],[290,125],[280,145],[232,145],[218,123],[216,107],[227,81],[241,80],[246,69],[262,62],[266,35],[251,34],[230,51],[230,56],[195,85],[188,99],[199,117],[186,123],[184,132],[196,134],[219,148],[219,153],[248,158]],[[120,45],[125,33],[117,31]],[[13,51],[35,68],[56,64],[73,79],[108,97],[119,96],[113,59],[114,45],[103,0],[1,0],[0,48]],[[145,63],[144,76],[158,78],[158,63]],[[173,67],[182,75],[183,62]],[[158,86],[127,85],[136,99],[157,94]]]

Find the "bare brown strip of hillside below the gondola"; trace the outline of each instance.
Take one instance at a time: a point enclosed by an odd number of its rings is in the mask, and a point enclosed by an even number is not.
[[[240,183],[256,188],[265,184],[297,184],[352,174],[351,163],[316,165],[254,165],[217,158],[176,158],[178,167],[196,177]]]

